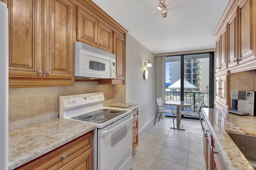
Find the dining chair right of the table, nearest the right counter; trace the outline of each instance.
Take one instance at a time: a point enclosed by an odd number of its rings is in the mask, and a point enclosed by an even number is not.
[[[201,126],[202,126],[202,130],[204,131],[202,119],[200,117],[200,110],[201,110],[202,106],[203,106],[203,102],[202,102],[202,100],[200,100],[198,106],[192,105],[191,107],[182,107],[180,110],[180,122],[181,122],[182,115],[199,118]],[[194,108],[194,107],[196,107],[196,108]],[[193,111],[187,111],[187,110],[184,110],[184,108],[192,109]]]

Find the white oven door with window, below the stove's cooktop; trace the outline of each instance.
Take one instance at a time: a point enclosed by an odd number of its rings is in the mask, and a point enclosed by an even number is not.
[[[123,162],[130,162],[123,170],[132,168],[132,162],[126,161],[132,150],[132,117],[130,114],[98,129],[98,170],[114,170]]]

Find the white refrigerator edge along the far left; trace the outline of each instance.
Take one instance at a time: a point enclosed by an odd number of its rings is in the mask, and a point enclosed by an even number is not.
[[[8,170],[8,9],[0,2],[0,169]]]

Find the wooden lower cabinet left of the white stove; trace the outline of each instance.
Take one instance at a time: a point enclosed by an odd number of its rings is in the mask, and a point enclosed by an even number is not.
[[[92,170],[92,137],[90,131],[16,170]]]

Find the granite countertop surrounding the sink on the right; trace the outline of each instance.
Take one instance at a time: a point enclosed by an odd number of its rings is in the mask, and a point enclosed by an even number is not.
[[[256,117],[235,115],[223,109],[202,111],[227,170],[254,170],[227,132],[256,136]]]

